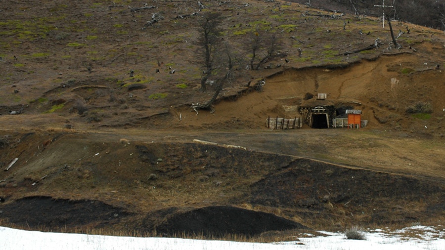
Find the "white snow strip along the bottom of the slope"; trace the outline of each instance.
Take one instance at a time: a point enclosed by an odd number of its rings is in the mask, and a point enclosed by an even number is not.
[[[319,231],[327,236],[306,235],[276,243],[43,233],[0,227],[0,250],[445,250],[444,227],[439,227],[442,229],[368,229],[366,240],[347,240],[341,232]]]

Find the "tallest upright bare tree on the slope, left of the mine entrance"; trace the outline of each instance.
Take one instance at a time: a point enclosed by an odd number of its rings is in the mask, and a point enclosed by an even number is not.
[[[198,63],[202,65],[201,88],[200,91],[207,90],[207,80],[209,80],[217,69],[216,60],[218,50],[221,48],[220,28],[223,16],[221,12],[206,12],[198,18],[198,41],[197,51]]]

